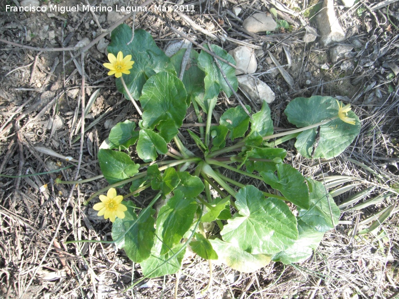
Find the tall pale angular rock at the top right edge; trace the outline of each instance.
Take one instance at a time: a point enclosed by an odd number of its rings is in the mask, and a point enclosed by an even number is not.
[[[322,9],[316,16],[316,21],[324,46],[345,40],[346,34],[334,11],[334,0],[324,0]]]

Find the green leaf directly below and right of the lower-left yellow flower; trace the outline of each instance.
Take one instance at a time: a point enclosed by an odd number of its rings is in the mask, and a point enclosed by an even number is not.
[[[125,211],[125,218],[116,218],[112,225],[112,239],[117,240],[126,233],[124,239],[116,245],[118,248],[124,248],[126,255],[133,262],[141,263],[150,256],[154,245],[155,210],[149,209],[137,217],[134,204],[130,201],[126,206],[128,210]]]

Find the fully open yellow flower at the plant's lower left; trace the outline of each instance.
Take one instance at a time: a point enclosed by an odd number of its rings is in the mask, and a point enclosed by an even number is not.
[[[104,215],[104,218],[109,218],[111,222],[115,221],[115,217],[121,219],[125,218],[124,212],[127,210],[127,207],[121,203],[123,196],[116,195],[116,190],[114,188],[108,190],[107,196],[100,195],[100,200],[101,202],[93,206],[93,209],[99,211],[97,216]]]

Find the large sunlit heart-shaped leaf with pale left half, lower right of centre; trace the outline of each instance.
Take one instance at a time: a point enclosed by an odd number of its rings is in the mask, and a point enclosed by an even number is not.
[[[298,238],[296,218],[282,200],[266,199],[252,185],[241,188],[235,198],[238,213],[220,232],[224,241],[248,253],[271,255]]]

